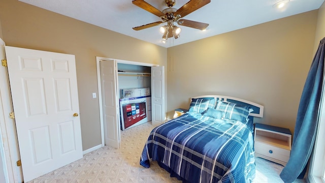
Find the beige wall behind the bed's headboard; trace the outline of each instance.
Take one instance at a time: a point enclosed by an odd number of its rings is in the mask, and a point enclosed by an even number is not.
[[[294,132],[317,10],[168,48],[168,111],[218,94],[265,106],[259,123]]]

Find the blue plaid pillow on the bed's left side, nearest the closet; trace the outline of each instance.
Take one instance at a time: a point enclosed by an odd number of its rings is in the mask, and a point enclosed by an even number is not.
[[[206,111],[208,108],[214,108],[214,106],[215,106],[215,99],[205,99],[205,98],[192,99],[191,104],[189,105],[188,112],[202,113]]]

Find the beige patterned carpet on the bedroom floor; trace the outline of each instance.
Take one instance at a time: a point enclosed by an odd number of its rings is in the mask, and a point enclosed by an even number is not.
[[[140,155],[152,130],[151,123],[121,131],[121,148],[104,146],[76,162],[38,177],[36,182],[181,182],[152,162],[150,168],[139,165]],[[283,166],[256,158],[256,177],[253,182],[283,182],[279,174]],[[306,182],[297,179],[297,182]]]

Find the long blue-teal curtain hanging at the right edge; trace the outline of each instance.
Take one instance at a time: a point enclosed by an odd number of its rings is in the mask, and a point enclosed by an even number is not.
[[[304,177],[313,150],[323,83],[324,43],[325,38],[320,40],[300,99],[290,158],[280,173],[285,183]]]

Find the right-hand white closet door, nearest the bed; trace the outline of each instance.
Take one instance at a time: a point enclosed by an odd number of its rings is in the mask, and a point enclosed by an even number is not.
[[[154,126],[165,122],[164,66],[151,67],[151,120]]]

